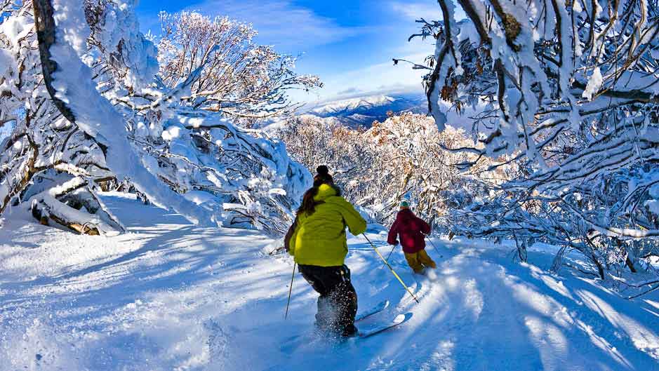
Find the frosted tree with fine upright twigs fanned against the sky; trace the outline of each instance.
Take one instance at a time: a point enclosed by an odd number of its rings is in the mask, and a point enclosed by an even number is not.
[[[182,97],[187,107],[222,112],[249,126],[258,119],[289,114],[299,107],[291,89],[319,88],[317,76],[298,75],[291,55],[253,41],[251,25],[197,12],[160,13],[159,77],[173,88],[199,69]]]

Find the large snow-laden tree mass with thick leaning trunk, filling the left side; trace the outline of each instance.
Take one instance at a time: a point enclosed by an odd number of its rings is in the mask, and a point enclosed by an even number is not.
[[[134,5],[0,3],[0,122],[13,126],[0,213],[29,202],[44,223],[121,230],[96,191],[125,184],[193,222],[284,231],[308,172],[283,144],[189,105],[206,63],[171,86],[154,79],[157,49]]]

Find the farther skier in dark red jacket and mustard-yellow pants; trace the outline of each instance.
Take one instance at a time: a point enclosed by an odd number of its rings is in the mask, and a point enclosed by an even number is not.
[[[425,252],[425,234],[430,234],[430,225],[412,213],[409,201],[401,201],[401,210],[396,215],[387,242],[398,245],[397,237],[400,235],[405,259],[414,273],[421,273],[424,268],[437,268],[437,264]]]

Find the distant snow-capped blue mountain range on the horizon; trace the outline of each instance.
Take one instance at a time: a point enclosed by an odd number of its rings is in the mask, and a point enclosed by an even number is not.
[[[325,102],[309,109],[306,114],[319,117],[333,117],[350,128],[364,126],[370,128],[373,121],[385,121],[387,112],[399,114],[413,112],[425,114],[427,101],[421,94],[368,95],[346,100]]]

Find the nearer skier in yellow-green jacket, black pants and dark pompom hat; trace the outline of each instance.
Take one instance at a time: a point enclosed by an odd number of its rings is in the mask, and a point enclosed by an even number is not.
[[[317,329],[350,337],[357,333],[357,292],[344,264],[348,252],[345,227],[357,236],[366,231],[366,221],[341,197],[328,168],[319,166],[284,242],[300,274],[320,294]]]

